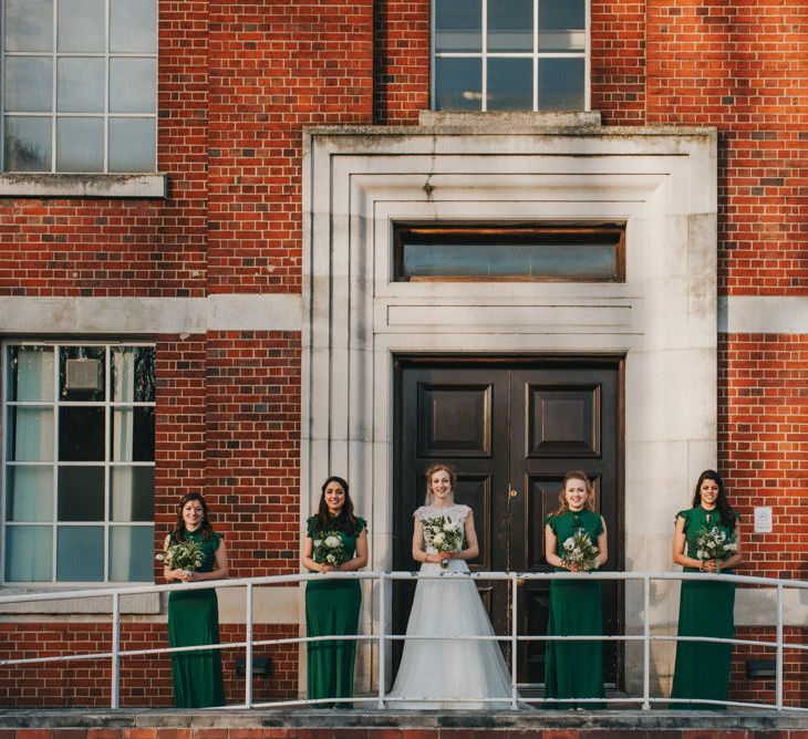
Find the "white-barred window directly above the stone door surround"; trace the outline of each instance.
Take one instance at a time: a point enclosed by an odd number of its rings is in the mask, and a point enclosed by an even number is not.
[[[433,0],[436,111],[588,110],[589,0]]]

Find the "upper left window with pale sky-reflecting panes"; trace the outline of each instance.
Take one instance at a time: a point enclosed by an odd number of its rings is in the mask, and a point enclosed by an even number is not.
[[[153,173],[157,0],[0,0],[2,169]]]

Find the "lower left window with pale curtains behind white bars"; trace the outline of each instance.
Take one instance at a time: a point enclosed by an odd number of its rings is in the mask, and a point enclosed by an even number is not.
[[[151,581],[154,347],[10,342],[3,354],[3,581]]]

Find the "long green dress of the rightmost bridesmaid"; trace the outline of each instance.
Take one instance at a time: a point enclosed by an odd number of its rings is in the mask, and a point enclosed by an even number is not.
[[[696,559],[698,532],[703,528],[718,527],[727,537],[735,533],[735,525],[721,522],[717,510],[707,511],[701,506],[676,513],[684,519],[687,542],[686,554]],[[735,514],[737,521],[737,514]],[[698,572],[698,568],[684,568],[685,572]],[[731,569],[723,574],[733,574]],[[735,634],[735,583],[711,579],[682,581],[678,602],[678,635],[733,638]],[[673,673],[671,698],[707,698],[726,700],[729,685],[729,665],[733,645],[713,642],[676,642],[676,666]],[[725,706],[713,704],[671,704],[671,708],[684,710],[719,710]]]

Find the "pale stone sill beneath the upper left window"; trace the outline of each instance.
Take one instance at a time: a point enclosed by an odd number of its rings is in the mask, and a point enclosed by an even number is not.
[[[0,173],[3,198],[165,198],[168,176]]]

